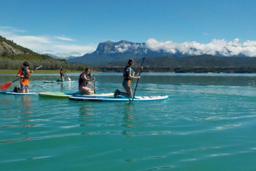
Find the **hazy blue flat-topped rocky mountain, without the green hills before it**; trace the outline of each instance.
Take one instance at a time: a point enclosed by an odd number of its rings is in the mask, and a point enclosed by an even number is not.
[[[195,49],[191,49],[195,51]],[[152,50],[148,48],[145,43],[133,43],[127,40],[121,40],[119,42],[106,41],[98,44],[97,49],[92,53],[84,54],[81,57],[75,57],[68,59],[67,62],[81,62],[91,66],[102,66],[108,65],[111,62],[127,61],[130,58],[141,59],[143,57],[156,58],[156,57],[189,57],[189,56],[200,56],[200,55],[189,55],[182,53],[178,49],[175,49],[175,53],[167,52],[164,49]],[[234,56],[223,56],[216,52],[218,57],[246,57],[243,54]],[[202,54],[206,55],[206,54]],[[253,58],[253,57],[250,57]],[[157,59],[157,58],[156,58]],[[188,60],[190,60],[188,58]],[[219,59],[218,59],[219,60]],[[200,61],[198,61],[200,62]]]

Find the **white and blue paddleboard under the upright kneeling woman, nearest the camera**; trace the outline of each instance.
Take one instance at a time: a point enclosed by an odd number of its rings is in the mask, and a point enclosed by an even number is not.
[[[75,101],[92,101],[92,102],[131,102],[132,98],[127,98],[123,96],[95,96],[95,97],[81,97],[81,96],[70,96],[69,100]],[[133,101],[159,101],[167,100],[169,96],[135,96]]]

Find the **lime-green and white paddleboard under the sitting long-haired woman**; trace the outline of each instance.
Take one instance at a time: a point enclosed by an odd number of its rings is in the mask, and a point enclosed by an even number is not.
[[[79,96],[79,97],[94,97],[94,96],[114,96],[114,93],[101,93],[101,94],[92,94],[92,95],[82,95],[77,92],[40,92],[38,96],[40,97],[50,97],[50,98],[69,98],[70,96]]]

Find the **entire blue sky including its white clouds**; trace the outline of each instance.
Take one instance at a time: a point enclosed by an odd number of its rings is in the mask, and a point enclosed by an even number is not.
[[[256,57],[255,7],[256,0],[0,0],[0,35],[59,57],[108,40]]]

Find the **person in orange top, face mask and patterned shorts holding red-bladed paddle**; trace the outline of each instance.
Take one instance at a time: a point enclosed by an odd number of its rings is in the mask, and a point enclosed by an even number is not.
[[[20,77],[20,89],[18,89],[18,91],[21,93],[29,93],[29,77],[33,71],[30,71],[28,66],[29,63],[25,61],[23,63],[23,68],[20,68],[17,74],[17,77]]]

